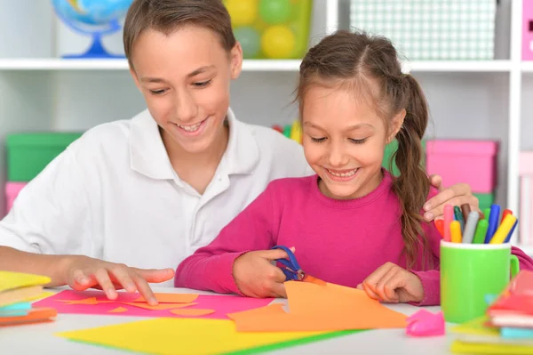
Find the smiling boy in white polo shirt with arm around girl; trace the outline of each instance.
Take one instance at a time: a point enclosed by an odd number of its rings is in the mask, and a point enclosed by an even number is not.
[[[21,191],[0,222],[0,270],[155,303],[148,282],[171,286],[176,262],[269,182],[311,170],[295,141],[229,109],[243,52],[220,0],[136,0],[123,43],[147,110],[89,130]],[[459,185],[429,201],[428,219],[447,201],[477,207]]]

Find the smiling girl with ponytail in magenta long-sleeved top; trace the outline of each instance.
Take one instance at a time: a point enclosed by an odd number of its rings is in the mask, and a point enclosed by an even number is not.
[[[439,303],[439,243],[422,206],[433,197],[421,166],[426,98],[403,75],[383,37],[346,31],[327,36],[300,66],[299,113],[304,153],[316,175],[268,185],[210,246],[179,265],[175,285],[254,297],[284,296],[292,246],[306,273],[363,288],[400,303]],[[381,168],[397,139],[401,176]],[[522,269],[533,262],[513,248]]]

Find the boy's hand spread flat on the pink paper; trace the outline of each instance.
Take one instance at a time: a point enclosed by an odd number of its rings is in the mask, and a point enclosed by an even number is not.
[[[72,256],[67,268],[67,284],[77,291],[99,288],[110,300],[118,297],[116,289],[119,288],[128,292],[139,291],[151,305],[156,305],[157,300],[148,282],[158,283],[173,277],[174,270],[171,269],[136,269],[83,255]]]

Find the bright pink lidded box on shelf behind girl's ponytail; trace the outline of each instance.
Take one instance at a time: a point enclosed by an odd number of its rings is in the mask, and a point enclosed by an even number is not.
[[[444,186],[465,182],[475,193],[492,193],[497,186],[497,150],[497,141],[427,141],[427,173],[441,175]]]

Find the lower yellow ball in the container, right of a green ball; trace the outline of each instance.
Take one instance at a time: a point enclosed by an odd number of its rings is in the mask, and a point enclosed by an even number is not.
[[[270,59],[287,59],[294,51],[296,37],[287,26],[275,25],[263,32],[261,49]]]

